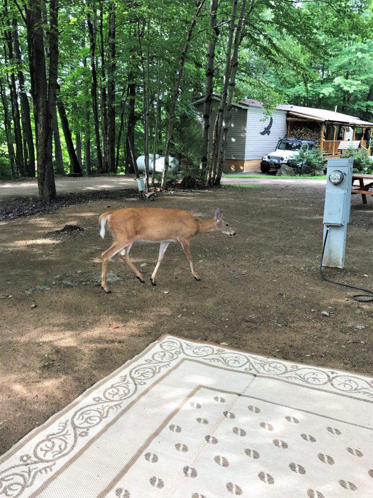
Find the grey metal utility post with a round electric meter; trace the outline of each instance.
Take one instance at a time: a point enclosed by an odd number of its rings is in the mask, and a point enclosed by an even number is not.
[[[323,266],[343,268],[350,223],[353,159],[329,159],[326,172]]]

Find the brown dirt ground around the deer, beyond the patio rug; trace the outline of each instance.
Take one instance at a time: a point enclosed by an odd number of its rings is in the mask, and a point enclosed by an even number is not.
[[[323,198],[323,186],[280,180],[164,194],[147,205],[203,218],[221,208],[237,236],[192,240],[200,282],[171,244],[156,287],[149,278],[158,246],[134,246],[132,261],[147,281],[116,256],[111,294],[98,284],[111,239],[99,237],[97,218],[139,201],[96,200],[2,221],[0,454],[165,333],[372,375],[373,303],[357,303],[352,289],[319,276]],[[372,215],[372,200],[363,206],[354,196],[346,267],[329,269],[330,277],[373,288]],[[66,224],[84,230],[48,235]]]

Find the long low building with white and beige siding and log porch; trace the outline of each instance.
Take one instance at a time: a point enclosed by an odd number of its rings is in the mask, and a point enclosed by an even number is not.
[[[193,102],[202,127],[204,98]],[[209,151],[219,96],[213,97],[210,117]],[[373,123],[356,117],[288,104],[279,105],[271,115],[266,114],[261,102],[243,99],[232,107],[224,171],[258,171],[264,155],[276,149],[280,138],[315,140],[327,158],[340,157],[341,141],[359,141],[359,146],[370,148]]]

